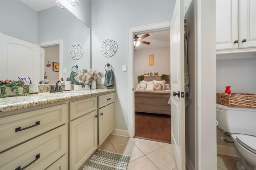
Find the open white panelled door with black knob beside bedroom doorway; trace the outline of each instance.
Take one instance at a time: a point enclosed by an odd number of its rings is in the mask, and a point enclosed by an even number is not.
[[[171,136],[172,149],[179,170],[185,163],[185,100],[184,100],[184,8],[176,1],[170,28],[171,46]],[[175,93],[175,94],[174,94]]]

